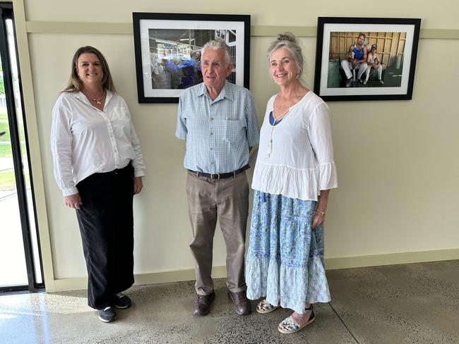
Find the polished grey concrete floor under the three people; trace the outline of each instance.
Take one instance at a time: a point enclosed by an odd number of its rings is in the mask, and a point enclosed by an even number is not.
[[[293,335],[278,323],[290,314],[239,317],[215,282],[206,317],[193,317],[193,282],[139,285],[131,309],[104,324],[85,291],[0,295],[0,343],[459,343],[459,261],[327,271],[333,301]],[[253,302],[253,306],[256,302]]]

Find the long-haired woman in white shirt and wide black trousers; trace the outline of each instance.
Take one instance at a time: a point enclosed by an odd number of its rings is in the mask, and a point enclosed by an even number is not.
[[[142,190],[143,157],[131,115],[116,93],[104,56],[81,47],[53,109],[54,178],[76,209],[88,269],[88,305],[114,321],[133,284],[133,195]]]

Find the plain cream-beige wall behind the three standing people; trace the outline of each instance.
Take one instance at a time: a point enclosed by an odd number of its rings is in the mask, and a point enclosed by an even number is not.
[[[75,214],[64,207],[54,182],[49,129],[52,106],[68,80],[71,56],[87,44],[107,57],[119,93],[133,114],[145,156],[147,176],[134,204],[136,281],[193,276],[184,142],[174,137],[177,104],[138,104],[131,33],[98,34],[107,28],[100,24],[93,33],[61,34],[54,32],[54,22],[113,23],[122,31],[123,24],[130,25],[133,11],[251,14],[254,29],[261,32],[251,38],[250,69],[250,88],[261,119],[268,97],[277,91],[268,78],[265,59],[273,37],[263,32],[273,26],[297,31],[314,28],[317,16],[357,15],[345,1],[340,2],[296,1],[282,6],[273,0],[228,4],[82,0],[71,5],[57,0],[13,1],[47,289],[84,287],[81,239]],[[459,116],[454,102],[459,72],[458,68],[442,68],[458,65],[459,30],[454,18],[458,11],[455,0],[435,4],[388,0],[384,6],[365,6],[358,13],[362,17],[422,18],[422,29],[433,30],[434,36],[437,32],[437,37],[443,37],[441,30],[451,30],[448,34],[455,39],[420,40],[411,101],[329,103],[339,188],[330,195],[326,221],[328,266],[459,258]],[[37,24],[32,22],[44,22],[44,29],[31,30]],[[300,40],[306,82],[312,87],[316,38]],[[441,61],[439,54],[444,54]],[[214,265],[223,266],[225,245],[219,231],[214,252]],[[400,252],[420,253],[396,254]],[[222,274],[224,269],[216,269],[215,276]]]

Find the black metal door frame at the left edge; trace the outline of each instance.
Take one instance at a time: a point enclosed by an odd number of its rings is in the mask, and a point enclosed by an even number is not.
[[[20,224],[22,227],[23,233],[23,242],[24,242],[24,253],[25,253],[25,266],[27,269],[27,276],[28,276],[28,285],[17,285],[11,287],[1,287],[0,292],[3,291],[13,291],[13,290],[29,290],[30,292],[35,291],[40,288],[44,288],[44,276],[43,276],[43,266],[42,266],[42,257],[41,257],[41,250],[40,250],[40,237],[37,231],[37,211],[35,207],[35,195],[33,192],[33,180],[32,180],[32,173],[30,173],[30,188],[32,190],[32,209],[33,214],[29,214],[28,211],[28,200],[27,200],[27,188],[25,185],[24,179],[24,171],[23,171],[23,161],[22,155],[20,152],[20,135],[18,132],[18,119],[16,113],[16,105],[14,99],[14,90],[13,90],[13,73],[11,72],[11,63],[10,63],[10,47],[8,46],[8,31],[6,28],[6,20],[10,19],[13,23],[13,35],[16,40],[16,28],[14,24],[13,18],[13,4],[11,3],[4,3],[0,2],[0,58],[1,58],[1,65],[3,68],[3,76],[4,76],[4,87],[5,87],[5,95],[6,95],[6,109],[8,111],[8,125],[10,130],[10,137],[11,137],[11,150],[13,152],[13,166],[15,171],[15,178],[16,178],[16,190],[18,194],[18,205],[19,205],[19,215],[20,215]],[[19,68],[19,61],[18,61],[18,47],[15,44],[14,49],[16,50],[16,64],[18,66],[18,82],[19,82],[19,91],[20,91],[20,105],[23,109],[23,123],[24,123],[24,135],[25,135],[25,149],[28,156],[29,162],[29,171],[32,171],[30,166],[30,151],[28,145],[28,135],[27,135],[27,125],[25,122],[24,116],[24,101],[23,101],[23,87],[20,81],[20,68]],[[35,264],[34,264],[34,257],[33,257],[33,247],[32,247],[32,239],[30,235],[30,221],[29,216],[35,217],[35,228],[34,231],[37,231],[37,244],[38,244],[38,254],[40,259],[40,271],[42,274],[42,283],[37,283],[37,278],[35,276]]]

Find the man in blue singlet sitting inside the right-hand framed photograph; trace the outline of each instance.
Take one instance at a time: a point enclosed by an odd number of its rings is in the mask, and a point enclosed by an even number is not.
[[[364,33],[360,32],[359,37],[357,37],[357,43],[351,45],[347,51],[347,59],[341,61],[341,67],[344,69],[346,74],[346,87],[350,87],[352,82],[352,77],[355,81],[355,70],[359,70],[357,73],[357,79],[362,82],[360,79],[362,74],[366,70],[366,46],[365,43],[366,36]],[[351,72],[351,69],[354,71]]]

